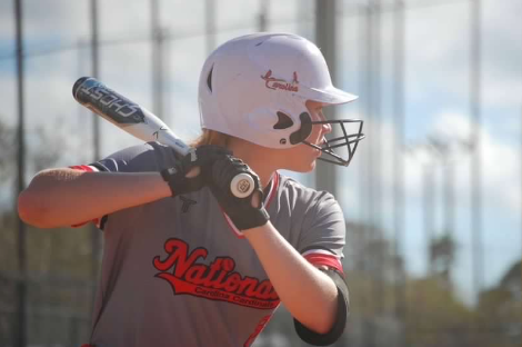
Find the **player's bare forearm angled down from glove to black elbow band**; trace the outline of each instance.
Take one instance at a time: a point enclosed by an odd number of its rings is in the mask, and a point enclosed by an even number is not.
[[[338,308],[333,281],[307,261],[270,222],[245,230],[244,235],[292,316],[319,334],[328,333]]]

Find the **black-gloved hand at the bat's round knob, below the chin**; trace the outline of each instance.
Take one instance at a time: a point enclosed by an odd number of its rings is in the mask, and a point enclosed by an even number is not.
[[[239,174],[250,175],[255,185],[253,192],[245,198],[238,198],[230,191],[230,182]],[[269,221],[259,177],[242,160],[230,155],[215,160],[210,171],[209,187],[239,230],[260,227]]]

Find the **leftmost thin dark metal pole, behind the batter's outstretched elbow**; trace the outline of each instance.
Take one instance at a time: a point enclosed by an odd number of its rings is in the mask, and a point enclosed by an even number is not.
[[[18,195],[26,187],[26,139],[24,139],[24,108],[23,108],[23,32],[22,32],[22,0],[14,1],[16,40],[17,40],[17,98],[18,98]],[[18,196],[17,195],[17,196]],[[26,262],[26,225],[18,218],[18,321],[14,345],[24,347],[27,344],[27,262]]]

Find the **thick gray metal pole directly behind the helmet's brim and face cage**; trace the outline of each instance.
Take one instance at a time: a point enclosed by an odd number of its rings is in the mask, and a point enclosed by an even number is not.
[[[330,76],[335,82],[335,8],[337,0],[315,0],[315,43],[321,48],[330,69]],[[324,109],[328,119],[335,119],[335,108]],[[318,161],[315,167],[315,188],[337,194],[335,167],[328,162]]]

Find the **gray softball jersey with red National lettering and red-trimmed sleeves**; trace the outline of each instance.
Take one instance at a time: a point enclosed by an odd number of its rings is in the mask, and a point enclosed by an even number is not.
[[[174,160],[171,149],[150,142],[83,169],[160,171]],[[265,206],[309,261],[342,271],[344,218],[330,194],[277,172]],[[97,347],[250,346],[280,304],[254,250],[208,188],[110,214],[101,228]]]

